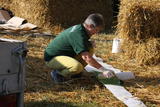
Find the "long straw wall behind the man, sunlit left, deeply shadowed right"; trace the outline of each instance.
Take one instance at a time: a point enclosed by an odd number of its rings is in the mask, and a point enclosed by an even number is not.
[[[79,24],[95,12],[104,15],[109,29],[113,13],[112,0],[0,0],[0,6],[52,32]]]

